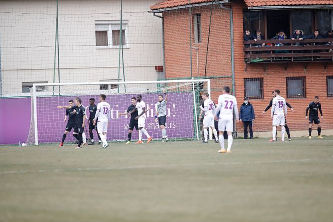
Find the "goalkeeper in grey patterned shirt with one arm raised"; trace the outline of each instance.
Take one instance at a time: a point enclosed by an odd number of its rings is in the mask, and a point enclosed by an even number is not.
[[[155,112],[155,122],[159,122],[159,126],[162,132],[162,142],[167,142],[169,139],[167,138],[166,131],[166,121],[167,121],[167,91],[163,90],[163,94],[165,99],[163,99],[163,95],[158,96],[159,102],[157,103],[157,108]]]

